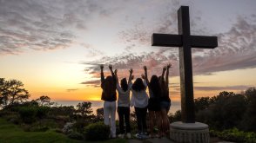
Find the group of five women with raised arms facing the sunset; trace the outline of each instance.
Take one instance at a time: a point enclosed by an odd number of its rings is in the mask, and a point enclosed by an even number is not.
[[[133,83],[132,68],[129,70],[128,81],[123,78],[119,83],[118,69],[113,71],[112,66],[109,65],[111,75],[105,78],[104,66],[100,66],[101,88],[103,89],[101,100],[104,101],[104,124],[110,125],[111,138],[116,138],[116,90],[118,90],[119,138],[124,138],[125,135],[127,138],[131,138],[130,107],[135,108],[138,125],[136,137],[148,136],[153,138],[168,135],[170,123],[167,114],[171,107],[168,76],[171,66],[172,64],[165,66],[160,76],[152,75],[150,81],[148,80],[147,68],[144,66],[145,73]],[[149,95],[146,93],[146,88],[148,88]],[[149,111],[149,133],[146,123],[147,110]]]

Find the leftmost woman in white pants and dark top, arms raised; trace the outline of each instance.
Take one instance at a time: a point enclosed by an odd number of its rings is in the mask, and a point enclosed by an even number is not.
[[[116,78],[112,70],[112,66],[109,65],[111,75],[104,78],[103,65],[100,65],[101,75],[101,88],[103,89],[101,94],[101,100],[104,101],[104,124],[111,127],[111,138],[116,138]],[[111,116],[111,119],[109,117]]]

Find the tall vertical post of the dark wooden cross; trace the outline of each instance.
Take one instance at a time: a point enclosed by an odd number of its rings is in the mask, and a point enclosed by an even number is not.
[[[192,50],[188,7],[178,10],[179,35],[182,35],[183,46],[179,47],[180,93],[182,121],[195,122],[192,81]]]

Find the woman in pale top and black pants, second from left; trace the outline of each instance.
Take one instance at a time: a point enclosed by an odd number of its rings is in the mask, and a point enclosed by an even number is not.
[[[132,68],[129,70],[129,80],[128,84],[131,84],[132,76]],[[118,82],[118,70],[115,70],[115,76],[117,81],[117,89],[118,89],[118,117],[119,117],[119,128],[120,134],[119,138],[124,138],[124,119],[125,119],[125,127],[126,127],[126,136],[127,138],[131,138],[131,127],[130,127],[130,91],[131,86],[128,86],[126,78],[121,80],[121,87]]]

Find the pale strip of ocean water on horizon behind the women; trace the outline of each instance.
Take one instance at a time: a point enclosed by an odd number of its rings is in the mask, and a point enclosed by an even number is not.
[[[57,106],[74,106],[76,107],[79,102],[83,101],[55,101],[57,102]],[[88,102],[88,101],[87,101]],[[91,108],[93,111],[93,114],[96,114],[96,110],[100,107],[103,107],[104,101],[90,101],[91,102]],[[172,101],[172,105],[169,111],[169,114],[174,114],[177,110],[180,110],[180,102],[179,101]],[[131,107],[131,113],[134,111],[134,107]]]

